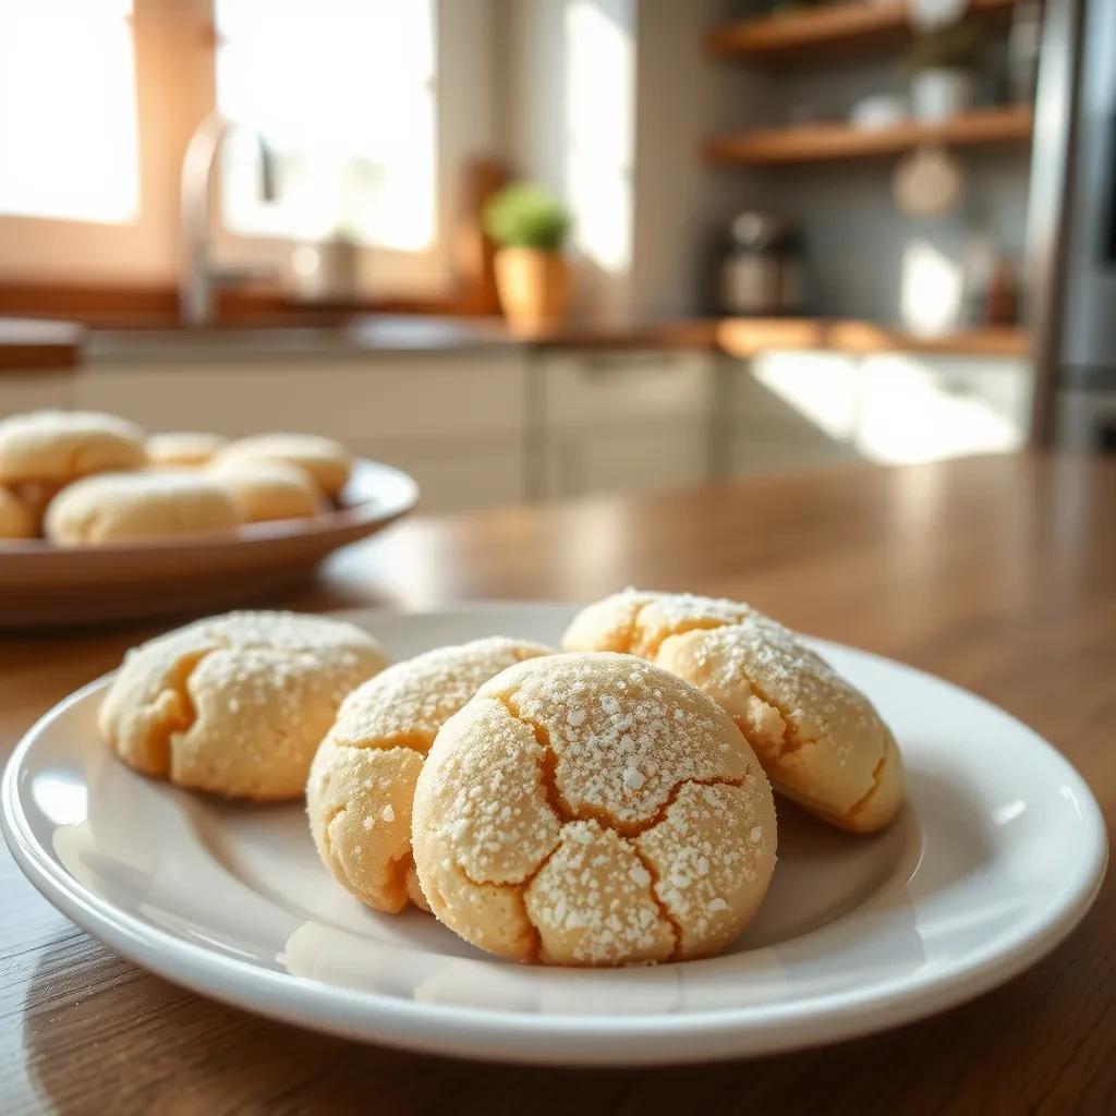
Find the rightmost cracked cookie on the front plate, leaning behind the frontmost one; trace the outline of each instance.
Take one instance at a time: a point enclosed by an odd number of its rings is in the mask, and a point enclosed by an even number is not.
[[[902,805],[898,748],[868,699],[747,605],[628,589],[581,612],[562,645],[629,651],[698,686],[748,738],[776,790],[830,825],[873,833]]]

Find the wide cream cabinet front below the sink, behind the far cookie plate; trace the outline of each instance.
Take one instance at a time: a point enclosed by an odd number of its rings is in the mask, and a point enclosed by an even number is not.
[[[526,494],[519,350],[165,364],[103,357],[75,393],[76,405],[122,414],[150,431],[336,437],[411,473],[425,511],[521,503]]]

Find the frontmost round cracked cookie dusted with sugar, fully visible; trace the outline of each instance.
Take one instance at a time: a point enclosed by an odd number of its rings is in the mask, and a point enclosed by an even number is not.
[[[771,789],[713,701],[629,655],[510,667],[437,734],[414,797],[434,914],[517,961],[714,953],[776,858]]]

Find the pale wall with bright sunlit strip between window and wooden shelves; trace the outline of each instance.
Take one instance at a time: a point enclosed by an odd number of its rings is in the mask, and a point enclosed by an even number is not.
[[[575,316],[698,312],[710,239],[759,201],[754,174],[711,174],[701,160],[708,136],[766,116],[762,79],[704,52],[725,0],[493,2],[503,146],[573,210]]]

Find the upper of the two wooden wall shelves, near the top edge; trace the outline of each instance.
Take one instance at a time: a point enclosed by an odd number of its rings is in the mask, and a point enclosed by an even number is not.
[[[969,0],[973,16],[1003,20],[1020,0]],[[715,28],[706,36],[720,58],[787,61],[796,56],[853,54],[902,46],[911,39],[905,0],[843,0],[780,16],[758,16]]]

